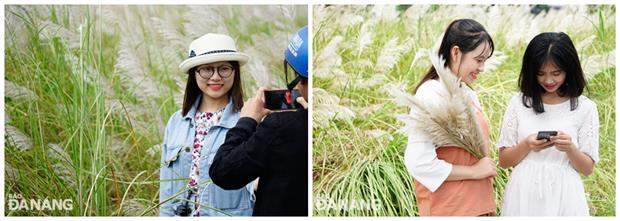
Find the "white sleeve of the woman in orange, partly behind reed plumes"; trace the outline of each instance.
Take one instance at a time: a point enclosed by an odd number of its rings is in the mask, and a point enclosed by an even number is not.
[[[433,99],[437,99],[438,94],[435,87],[440,85],[434,84],[434,82],[436,81],[424,83],[418,89],[416,97],[425,102],[432,102]],[[410,114],[415,115],[415,110],[411,110]],[[437,158],[435,145],[422,131],[414,130],[413,133],[409,134],[404,161],[409,174],[431,192],[435,192],[452,171],[452,164]]]

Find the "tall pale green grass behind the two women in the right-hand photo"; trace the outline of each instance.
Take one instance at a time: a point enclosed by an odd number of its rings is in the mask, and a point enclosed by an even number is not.
[[[563,6],[533,14],[532,6],[314,6],[313,195],[317,216],[418,215],[412,178],[403,165],[407,137],[388,92],[412,93],[430,67],[425,55],[454,19],[473,18],[495,42],[495,53],[473,87],[489,119],[491,144],[509,98],[517,92],[527,43],[546,31],[575,42],[587,74],[585,96],[597,104],[600,159],[582,177],[591,214],[615,216],[615,7]],[[494,149],[492,157],[497,160]],[[498,168],[501,208],[510,170]],[[326,206],[378,201],[378,209]],[[373,202],[374,202],[373,201]],[[501,211],[498,211],[501,213]]]

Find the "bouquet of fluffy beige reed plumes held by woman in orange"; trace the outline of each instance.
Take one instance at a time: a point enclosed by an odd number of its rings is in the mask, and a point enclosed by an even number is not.
[[[467,86],[450,69],[444,67],[443,58],[436,55],[429,57],[445,89],[446,93],[442,94],[445,96],[436,100],[437,105],[429,105],[420,97],[392,91],[397,103],[415,111],[413,115],[398,116],[405,123],[403,131],[408,134],[421,131],[438,146],[457,146],[479,159],[484,157],[485,141],[472,106],[474,102],[465,91]]]

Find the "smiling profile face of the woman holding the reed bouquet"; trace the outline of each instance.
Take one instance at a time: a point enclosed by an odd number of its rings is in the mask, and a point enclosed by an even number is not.
[[[488,42],[484,42],[465,54],[459,51],[460,59],[459,56],[453,58],[454,64],[450,65],[450,69],[469,85],[478,78],[480,72],[484,71],[484,63],[490,55],[491,47]]]

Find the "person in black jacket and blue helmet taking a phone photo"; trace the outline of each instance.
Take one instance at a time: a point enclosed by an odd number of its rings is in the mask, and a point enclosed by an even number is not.
[[[224,189],[238,189],[259,178],[253,216],[308,215],[308,28],[300,29],[284,52],[304,106],[293,111],[265,109],[264,89],[241,109],[241,118],[217,151],[209,175]]]

